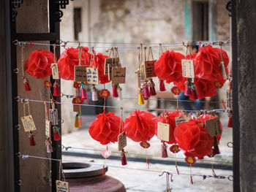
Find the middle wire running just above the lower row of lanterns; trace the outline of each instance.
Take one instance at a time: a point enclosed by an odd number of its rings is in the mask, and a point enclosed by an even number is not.
[[[19,96],[16,97],[16,101],[32,101],[32,102],[39,102],[44,103],[43,100],[35,100],[35,99],[23,99]],[[51,101],[46,101],[47,103],[50,103]],[[72,103],[65,103],[65,102],[55,102],[55,104],[72,104]],[[73,105],[73,104],[72,104]],[[75,104],[80,106],[89,106],[89,107],[106,107],[106,108],[115,108],[119,109],[120,107],[116,106],[103,106],[103,105],[97,105],[97,104]],[[138,107],[123,107],[127,110],[155,110],[155,111],[170,111],[170,112],[176,112],[177,110],[169,110],[169,109],[160,109],[160,108],[138,108]],[[187,112],[197,112],[198,110],[187,110]],[[216,109],[216,110],[200,110],[200,112],[226,112],[226,110],[223,109]]]

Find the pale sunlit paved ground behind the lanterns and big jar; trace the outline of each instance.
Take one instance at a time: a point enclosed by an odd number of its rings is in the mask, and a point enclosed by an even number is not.
[[[105,147],[100,145],[99,142],[94,141],[91,139],[88,132],[88,127],[91,124],[91,121],[94,120],[95,117],[86,116],[83,117],[83,128],[79,131],[73,132],[72,134],[67,134],[62,137],[62,142],[64,146],[72,146],[72,147],[83,147],[88,150],[74,150],[69,149],[70,152],[77,152],[77,153],[95,153],[100,154],[100,151],[97,150],[105,150]],[[232,161],[232,148],[227,147],[227,142],[232,141],[232,128],[227,128],[227,117],[224,116],[221,118],[224,131],[222,134],[222,139],[220,142],[220,150],[221,155],[218,155],[217,158],[214,158],[215,161]],[[147,150],[148,155],[160,155],[160,142],[157,137],[151,139],[151,147]],[[94,149],[94,150],[93,150]],[[117,144],[111,144],[110,150],[116,151]],[[139,143],[132,142],[128,139],[126,150],[129,153],[142,153],[145,154],[145,150],[140,147]],[[115,154],[117,155],[117,154]],[[169,153],[171,160],[173,160],[173,155]],[[184,155],[180,152],[177,155],[178,158],[183,158]],[[78,158],[72,156],[64,156],[64,160],[72,160],[72,161],[84,161],[90,160],[88,158]],[[104,159],[94,159],[95,163],[102,164],[104,163]],[[182,159],[181,159],[182,161]],[[118,180],[121,180],[124,183],[127,191],[165,191],[166,188],[166,178],[159,177],[159,173],[162,171],[167,172],[176,172],[175,166],[164,165],[164,164],[151,164],[151,168],[149,170],[157,170],[159,172],[148,172],[148,171],[139,171],[139,170],[132,170],[132,169],[120,169],[114,168],[111,166],[121,166],[120,161],[114,160],[107,160],[106,164],[109,167],[108,175],[112,177],[116,177]],[[140,162],[128,162],[127,168],[136,168],[136,169],[146,169],[146,163]],[[189,167],[179,166],[179,171],[181,173],[189,174],[190,169]],[[219,170],[216,169],[215,172],[218,175],[228,176],[233,174],[232,171],[227,170]],[[192,167],[192,174],[209,174],[211,175],[211,169],[202,169],[202,168],[195,168]],[[183,191],[183,192],[194,192],[194,191],[232,191],[232,182],[229,180],[217,180],[213,178],[208,178],[203,180],[202,177],[193,177],[194,185],[191,185],[189,182],[189,176],[187,175],[174,175],[173,176],[173,183],[170,183],[172,191]]]

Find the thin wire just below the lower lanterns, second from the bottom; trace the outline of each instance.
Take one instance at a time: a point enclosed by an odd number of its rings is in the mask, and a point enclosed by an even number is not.
[[[73,149],[73,150],[92,150],[92,151],[99,151],[99,152],[102,152],[102,150],[97,150],[97,149],[91,149],[91,148],[85,148],[85,147],[72,147],[72,146],[64,146],[64,145],[61,145],[62,146],[62,149],[64,150],[69,150],[69,149]],[[120,153],[120,151],[113,151],[111,150],[112,153]],[[156,158],[161,158],[160,156],[157,156],[157,155],[146,155],[146,154],[142,154],[142,153],[127,153],[128,155],[138,155],[138,156],[150,156],[150,157],[156,157]],[[168,158],[175,158],[175,157],[168,157]],[[184,158],[178,158],[178,159],[181,159],[181,160],[184,160]],[[200,161],[206,161],[206,162],[214,162],[214,163],[222,163],[222,164],[233,164],[233,163],[230,163],[230,162],[226,162],[226,161],[211,161],[211,160],[206,160],[206,159],[200,159]]]

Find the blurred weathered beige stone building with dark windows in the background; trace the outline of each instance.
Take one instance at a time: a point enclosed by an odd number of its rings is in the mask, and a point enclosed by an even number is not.
[[[121,85],[123,96],[137,98],[138,50],[140,42],[157,43],[154,58],[159,57],[159,42],[216,41],[230,39],[230,18],[225,8],[226,0],[75,0],[69,1],[61,21],[61,39],[67,45],[80,42],[132,42],[138,45],[90,44],[97,52],[105,53],[107,47],[120,47],[122,66],[127,67],[127,82]],[[153,45],[152,45],[153,46]],[[184,47],[166,47],[184,53]],[[224,50],[230,55],[230,46]],[[62,50],[63,51],[63,50]],[[105,53],[108,54],[108,53]],[[231,57],[230,57],[231,58]],[[158,82],[155,80],[158,90]],[[108,83],[110,84],[110,83]],[[71,93],[72,82],[62,81],[62,92]],[[97,86],[99,89],[101,86]],[[171,85],[167,86],[170,93]],[[111,90],[110,85],[107,88]],[[65,99],[64,99],[65,101]],[[70,102],[70,101],[69,101]],[[126,106],[137,105],[136,99],[121,101]],[[120,105],[116,99],[112,104]],[[154,105],[151,103],[150,105]],[[73,130],[72,107],[63,105],[66,122],[63,131]]]

